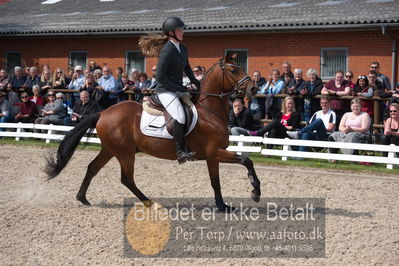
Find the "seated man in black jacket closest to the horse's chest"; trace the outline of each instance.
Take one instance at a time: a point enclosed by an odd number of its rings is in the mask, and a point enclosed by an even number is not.
[[[238,136],[242,134],[248,136],[248,131],[254,129],[255,121],[252,113],[244,107],[242,99],[236,98],[233,101],[228,123],[231,135]]]

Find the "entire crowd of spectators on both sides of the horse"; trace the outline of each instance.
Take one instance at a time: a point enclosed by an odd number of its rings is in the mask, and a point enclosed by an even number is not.
[[[360,142],[372,133],[371,118],[376,105],[364,98],[350,102],[340,96],[379,96],[384,99],[377,105],[382,114],[379,122],[385,125],[381,143],[398,145],[399,83],[392,88],[379,68],[378,62],[372,62],[368,73],[357,79],[352,71],[337,71],[334,79],[326,83],[316,69],[292,71],[288,62],[282,64],[281,72],[273,69],[270,76],[263,77],[260,71],[254,71],[258,97],[249,102],[232,99],[228,117],[230,133]],[[156,82],[156,66],[151,72],[149,76],[133,68],[125,73],[122,67],[117,67],[113,74],[107,65],[100,67],[94,61],[87,69],[78,65],[66,72],[60,67],[52,71],[48,65],[44,65],[40,73],[36,67],[17,66],[9,76],[1,69],[0,123],[74,126],[91,113],[128,100],[127,91],[134,92],[133,100],[141,103]],[[201,80],[206,69],[195,66],[193,73]],[[183,84],[189,86],[184,79]],[[60,92],[68,89],[74,93]],[[288,96],[275,97],[276,94]],[[306,147],[299,150],[306,151]]]

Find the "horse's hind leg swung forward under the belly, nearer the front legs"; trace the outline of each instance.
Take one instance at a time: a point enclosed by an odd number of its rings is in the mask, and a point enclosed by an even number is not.
[[[133,192],[136,197],[142,202],[148,201],[149,199],[137,188],[134,183],[134,160],[135,154],[131,153],[129,156],[121,156],[118,158],[121,165],[121,182],[124,184],[131,192]]]

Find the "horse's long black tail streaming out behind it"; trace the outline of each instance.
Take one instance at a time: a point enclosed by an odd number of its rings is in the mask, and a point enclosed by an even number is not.
[[[56,177],[68,164],[80,140],[89,128],[94,129],[101,113],[95,113],[82,119],[74,129],[69,131],[58,146],[57,157],[49,156],[46,158],[47,164],[45,172],[49,179]]]

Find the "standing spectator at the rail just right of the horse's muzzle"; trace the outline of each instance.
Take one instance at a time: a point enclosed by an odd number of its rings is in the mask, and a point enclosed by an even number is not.
[[[256,95],[266,94],[266,79],[261,76],[260,71],[254,71],[252,80],[255,82],[256,86],[258,86]],[[266,98],[264,97],[256,97],[252,98],[252,101],[249,104],[249,109],[251,110],[253,118],[258,124],[260,123],[260,120],[265,117],[265,100]]]

